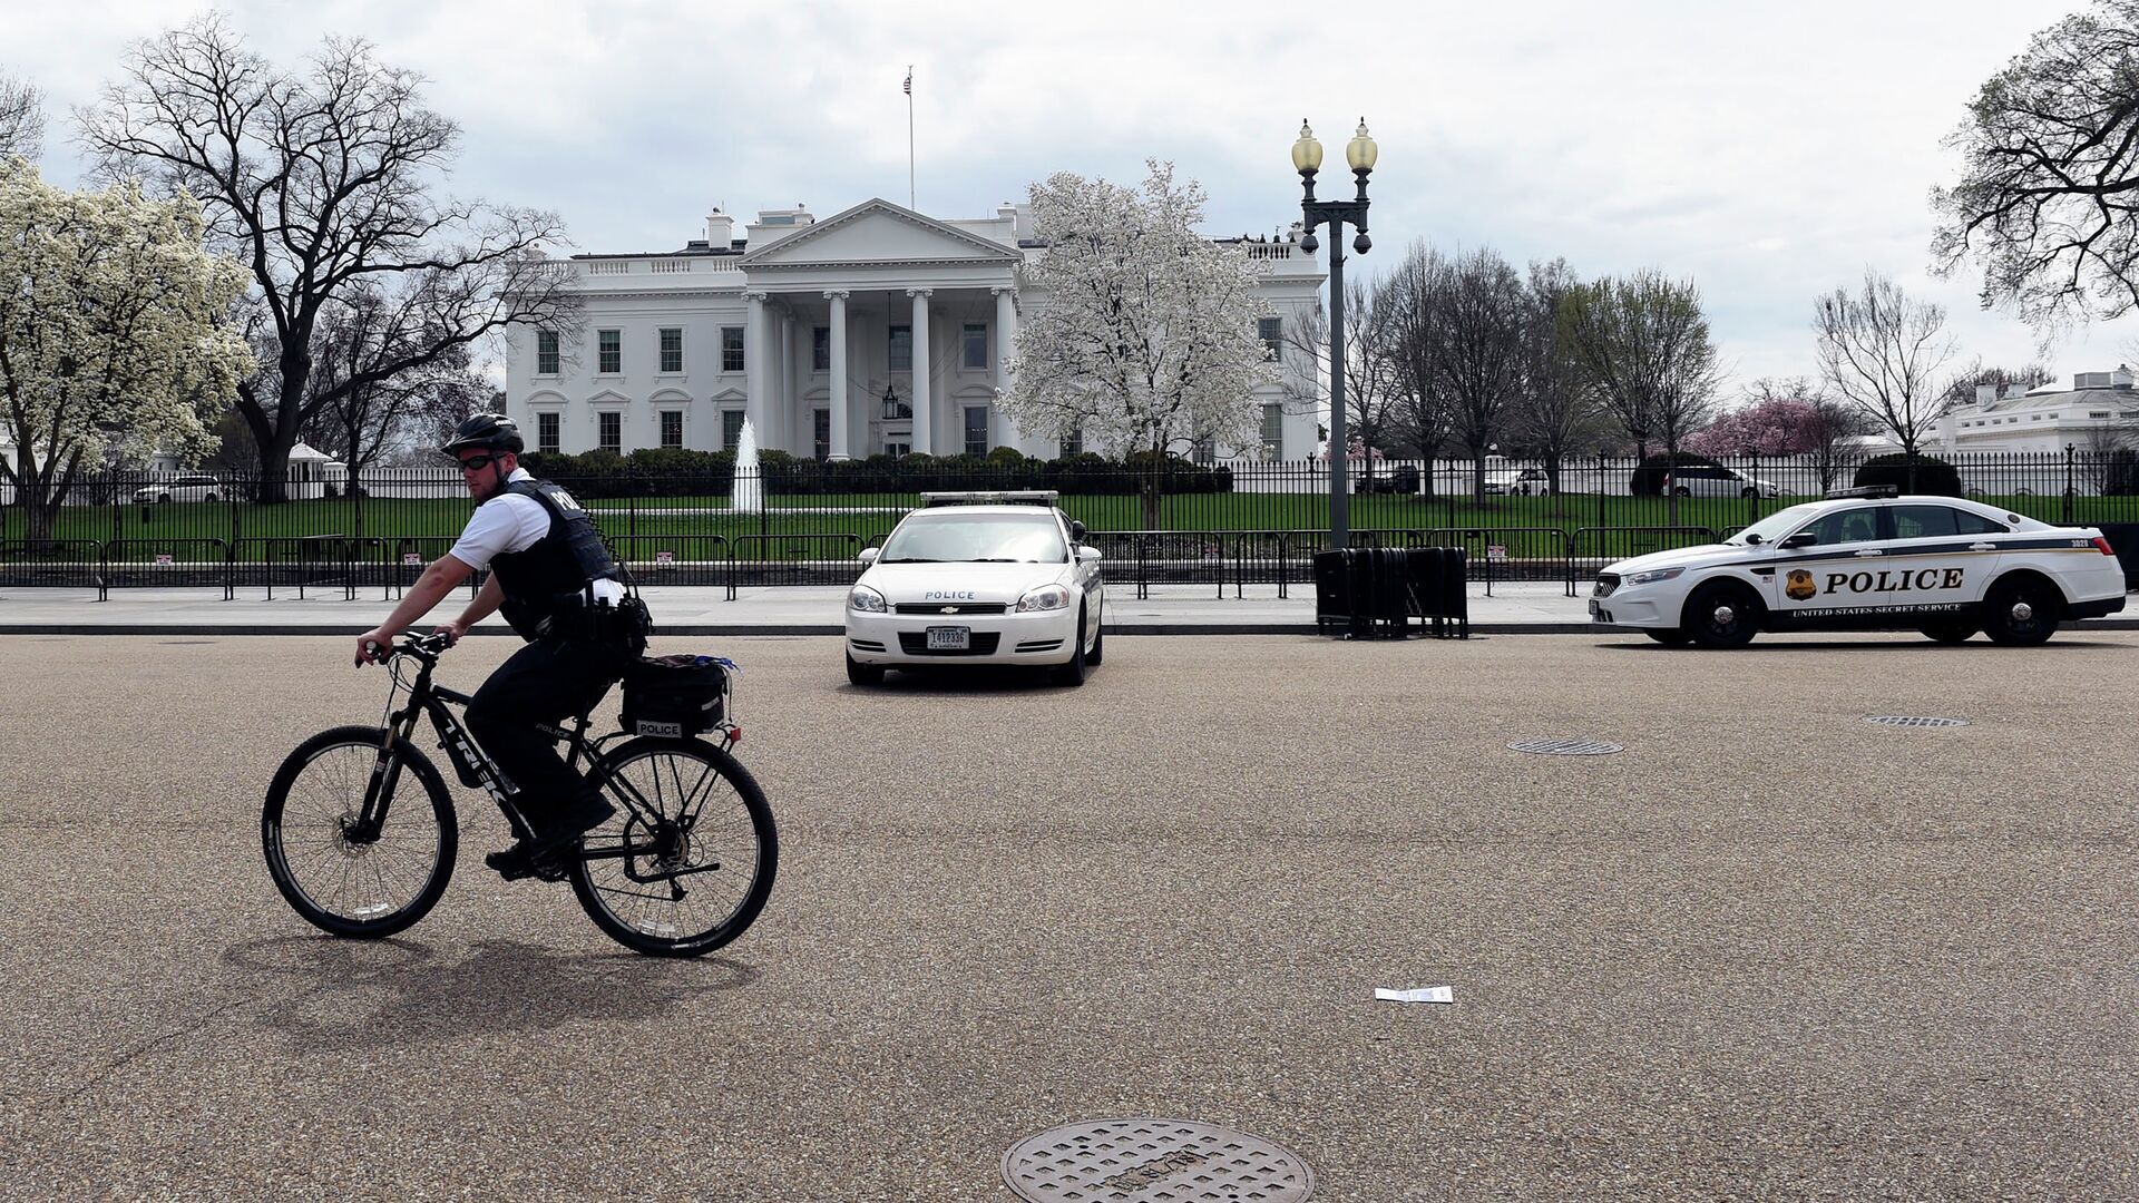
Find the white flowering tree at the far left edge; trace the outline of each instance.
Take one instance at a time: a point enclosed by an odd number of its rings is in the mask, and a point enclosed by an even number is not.
[[[201,205],[137,184],[68,193],[28,158],[0,161],[0,458],[30,537],[107,447],[141,456],[207,443],[207,422],[252,370],[229,323],[246,291],[210,255]]]

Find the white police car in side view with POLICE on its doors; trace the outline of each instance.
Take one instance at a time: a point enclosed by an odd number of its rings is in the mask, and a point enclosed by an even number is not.
[[[2051,527],[1957,497],[1846,490],[1792,505],[1722,544],[1606,565],[1596,623],[1662,644],[1745,646],[1756,631],[1987,631],[2038,644],[2064,619],[2124,608],[2124,572],[2100,531]]]

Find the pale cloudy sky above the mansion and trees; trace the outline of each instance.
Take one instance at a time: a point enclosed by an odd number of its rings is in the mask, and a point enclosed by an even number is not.
[[[71,109],[126,49],[205,9],[6,0],[0,68],[49,103],[45,173],[77,182]],[[1927,193],[1976,88],[2079,0],[1410,0],[565,4],[246,0],[220,11],[278,62],[321,36],[421,71],[460,122],[449,188],[563,214],[580,250],[672,250],[721,205],[830,216],[907,201],[984,216],[1052,171],[1138,180],[1170,158],[1211,233],[1298,216],[1288,154],[1309,118],[1341,163],[1382,146],[1373,272],[1414,240],[1566,257],[1583,276],[1662,268],[1701,285],[1737,381],[1812,375],[1820,291],[1865,268],[1946,304],[1964,357],[2036,338],[1927,274]],[[1324,188],[1328,191],[1328,188]],[[2053,372],[2139,362],[2139,321],[2047,347]]]

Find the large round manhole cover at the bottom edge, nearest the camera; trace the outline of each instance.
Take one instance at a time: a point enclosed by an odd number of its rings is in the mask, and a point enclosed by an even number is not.
[[[1093,1120],[1027,1137],[1003,1182],[1031,1203],[1301,1203],[1315,1175],[1262,1137],[1191,1120]]]

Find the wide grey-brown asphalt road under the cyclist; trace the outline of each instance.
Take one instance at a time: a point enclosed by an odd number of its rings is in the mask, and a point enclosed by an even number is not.
[[[0,1197],[1007,1201],[1108,1115],[1318,1201],[2139,1197],[2135,634],[1112,638],[1074,691],[712,642],[657,651],[744,664],[781,871],[667,963],[468,792],[402,938],[282,905],[347,640],[0,638]]]

